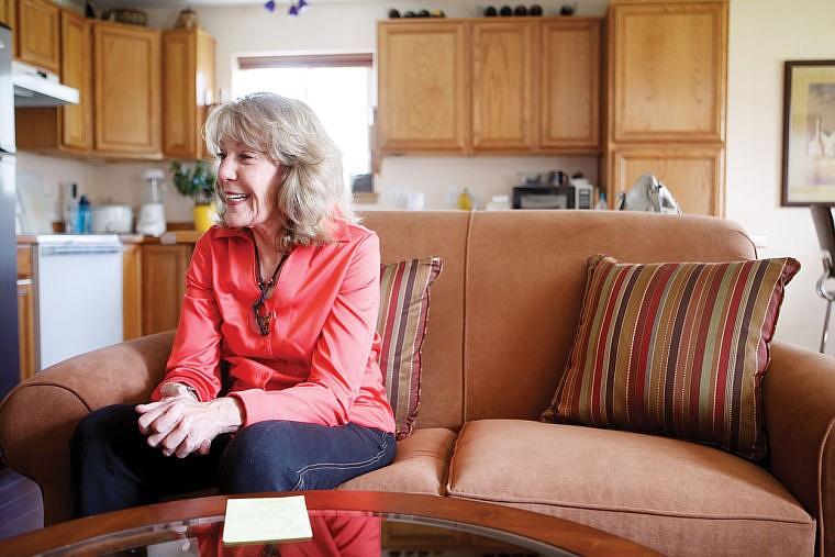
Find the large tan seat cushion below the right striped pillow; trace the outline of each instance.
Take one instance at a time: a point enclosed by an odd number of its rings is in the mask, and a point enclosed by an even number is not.
[[[447,490],[587,524],[666,555],[814,553],[814,519],[766,470],[660,435],[468,422]]]

